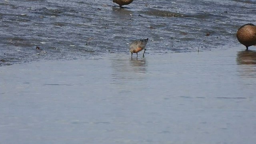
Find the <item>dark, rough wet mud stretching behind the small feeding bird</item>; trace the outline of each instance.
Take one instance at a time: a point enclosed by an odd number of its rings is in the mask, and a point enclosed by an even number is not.
[[[236,30],[254,23],[248,0],[2,0],[0,65],[127,53],[149,38],[147,52],[190,52],[240,45]],[[38,46],[40,49],[37,49]]]

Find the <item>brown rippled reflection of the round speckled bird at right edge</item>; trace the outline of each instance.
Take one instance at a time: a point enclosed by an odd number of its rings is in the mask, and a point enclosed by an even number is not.
[[[256,78],[256,51],[238,52],[236,62],[241,76]]]

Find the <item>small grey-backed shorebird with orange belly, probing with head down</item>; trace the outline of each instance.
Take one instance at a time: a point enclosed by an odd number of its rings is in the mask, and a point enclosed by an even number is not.
[[[146,51],[146,44],[148,43],[148,38],[147,39],[141,39],[141,40],[134,40],[131,44],[130,44],[130,52],[131,54],[136,53],[137,57],[138,57],[138,52],[142,51],[144,49],[143,52],[143,58],[144,58],[144,53]]]

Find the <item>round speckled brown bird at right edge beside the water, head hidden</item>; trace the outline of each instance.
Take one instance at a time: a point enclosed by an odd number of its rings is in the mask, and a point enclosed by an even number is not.
[[[256,45],[256,26],[254,24],[241,26],[236,32],[236,38],[248,50],[249,46]]]

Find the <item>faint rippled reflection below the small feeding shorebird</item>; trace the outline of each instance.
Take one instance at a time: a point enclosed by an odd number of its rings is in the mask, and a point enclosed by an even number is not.
[[[113,81],[120,84],[127,80],[142,80],[146,76],[146,58],[113,58]]]

